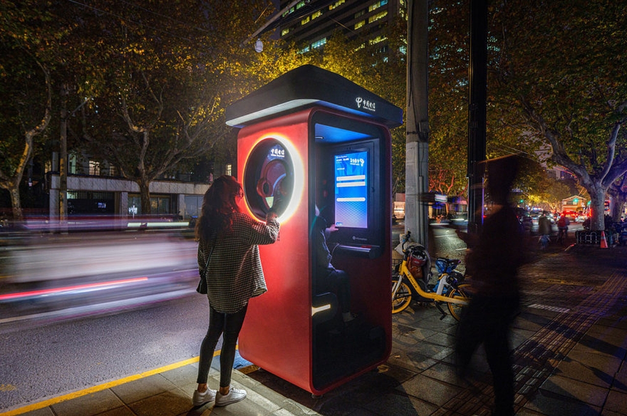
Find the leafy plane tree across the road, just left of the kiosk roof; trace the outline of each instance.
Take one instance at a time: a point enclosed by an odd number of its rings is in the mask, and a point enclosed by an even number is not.
[[[151,212],[151,182],[228,138],[223,113],[233,99],[231,68],[241,65],[238,56],[255,54],[239,43],[265,6],[253,0],[99,6],[107,36],[98,66],[106,88],[83,113],[82,137],[89,153],[137,183],[142,213]]]

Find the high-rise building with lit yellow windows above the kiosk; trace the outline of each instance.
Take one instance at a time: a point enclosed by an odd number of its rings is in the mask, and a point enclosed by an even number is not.
[[[293,1],[282,0],[281,9]],[[383,29],[398,16],[406,17],[407,0],[302,0],[283,12],[280,37],[293,41],[300,51],[322,48],[335,31],[349,39],[360,38],[369,45],[387,49]]]

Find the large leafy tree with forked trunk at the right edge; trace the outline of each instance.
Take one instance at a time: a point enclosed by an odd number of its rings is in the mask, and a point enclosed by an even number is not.
[[[604,228],[606,192],[627,171],[627,28],[608,0],[508,0],[493,11],[491,88],[502,127],[574,174]]]

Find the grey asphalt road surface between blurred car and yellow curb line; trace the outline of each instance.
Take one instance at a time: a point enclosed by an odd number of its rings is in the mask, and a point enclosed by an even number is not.
[[[0,334],[0,410],[198,355],[207,298]],[[189,380],[191,384],[196,380]]]

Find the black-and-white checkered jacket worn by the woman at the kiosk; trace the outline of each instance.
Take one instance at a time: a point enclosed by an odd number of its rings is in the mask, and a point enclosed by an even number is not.
[[[209,304],[218,312],[234,313],[248,299],[265,293],[258,244],[277,241],[277,214],[270,212],[265,224],[241,212],[232,214],[233,229],[215,242],[205,278]],[[212,241],[198,245],[198,271],[203,274]]]

